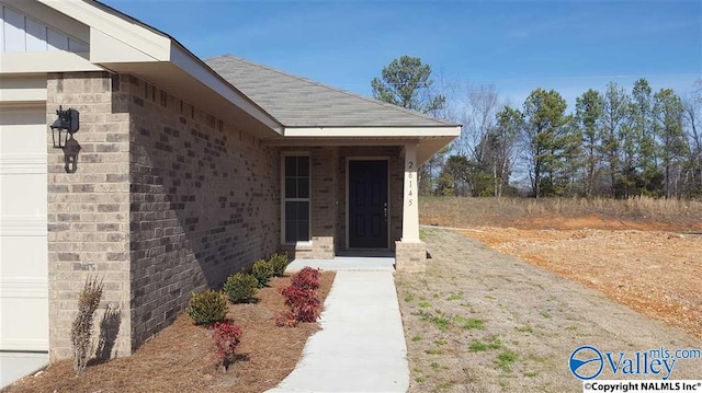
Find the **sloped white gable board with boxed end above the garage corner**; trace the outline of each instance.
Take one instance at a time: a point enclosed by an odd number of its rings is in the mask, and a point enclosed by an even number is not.
[[[158,34],[149,28],[138,25],[135,22],[125,20],[121,15],[104,11],[99,7],[82,0],[37,0],[64,14],[91,27],[113,39],[131,46],[134,50],[143,53],[151,58],[151,61],[168,61],[170,56],[171,39],[162,34]],[[123,62],[118,55],[125,50],[118,50],[113,56],[110,55],[112,48],[100,47],[90,43],[91,61],[93,62]],[[93,54],[94,51],[94,54]],[[94,56],[94,58],[93,58]]]

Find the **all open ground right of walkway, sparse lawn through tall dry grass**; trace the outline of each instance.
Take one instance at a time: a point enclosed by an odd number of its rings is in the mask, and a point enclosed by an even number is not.
[[[397,278],[412,392],[577,391],[580,345],[700,347],[701,201],[434,197],[420,220],[464,230],[422,227],[427,273]]]

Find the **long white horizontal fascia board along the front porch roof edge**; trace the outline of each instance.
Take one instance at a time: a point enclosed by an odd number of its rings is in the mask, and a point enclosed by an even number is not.
[[[457,137],[461,127],[285,127],[286,138],[410,138]]]

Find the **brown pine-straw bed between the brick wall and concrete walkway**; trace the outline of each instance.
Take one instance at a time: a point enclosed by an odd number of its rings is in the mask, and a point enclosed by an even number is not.
[[[322,271],[318,296],[324,299],[333,271]],[[259,290],[257,303],[229,304],[228,317],[241,325],[238,359],[227,371],[216,367],[211,332],[181,314],[169,327],[133,356],[89,366],[76,377],[70,359],[56,362],[36,377],[3,392],[263,392],[274,388],[295,367],[316,323],[275,326],[275,315],[287,310],[279,288],[290,277],[274,278]]]

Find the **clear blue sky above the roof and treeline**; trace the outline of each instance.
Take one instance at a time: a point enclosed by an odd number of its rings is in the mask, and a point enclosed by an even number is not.
[[[682,93],[702,77],[699,0],[103,1],[203,59],[231,54],[369,96],[403,55],[458,94],[467,81],[494,83],[517,106],[536,88],[573,104],[610,81]]]

